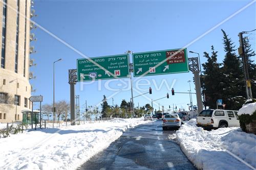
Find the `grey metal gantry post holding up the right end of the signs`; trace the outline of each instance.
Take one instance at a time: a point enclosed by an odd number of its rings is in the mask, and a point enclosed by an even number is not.
[[[202,101],[202,94],[201,94],[201,83],[200,83],[200,67],[198,63],[198,57],[188,58],[188,66],[189,70],[194,74],[194,81],[196,86],[196,93],[197,93],[197,110],[198,114],[203,110],[203,101]]]

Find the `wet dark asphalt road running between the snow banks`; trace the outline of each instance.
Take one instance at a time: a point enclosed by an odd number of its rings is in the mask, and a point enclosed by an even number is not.
[[[162,131],[161,120],[129,129],[78,169],[196,169],[179,145]]]

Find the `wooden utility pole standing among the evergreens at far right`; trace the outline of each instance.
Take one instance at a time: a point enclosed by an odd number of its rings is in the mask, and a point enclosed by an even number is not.
[[[249,72],[248,72],[248,64],[247,64],[248,62],[247,62],[247,58],[245,56],[245,49],[244,49],[243,33],[245,33],[245,32],[241,32],[241,33],[238,34],[239,42],[240,42],[240,47],[238,48],[238,53],[241,56],[242,62],[243,62],[244,79],[245,79],[247,99],[252,99],[251,83],[250,83]]]

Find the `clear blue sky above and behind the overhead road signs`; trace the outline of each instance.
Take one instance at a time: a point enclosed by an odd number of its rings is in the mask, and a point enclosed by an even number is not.
[[[127,50],[134,53],[159,51],[181,48],[195,40],[203,33],[233,13],[245,7],[251,1],[35,1],[34,9],[37,17],[32,19],[57,37],[67,42],[88,57],[123,54]],[[248,8],[233,16],[221,26],[211,31],[195,43],[187,47],[188,51],[200,53],[201,63],[205,62],[203,52],[210,53],[210,46],[214,45],[218,51],[218,61],[224,59],[222,32],[224,29],[232,39],[236,48],[239,46],[238,33],[255,29],[255,1]],[[68,69],[76,68],[76,59],[82,58],[65,44],[59,42],[41,29],[32,30],[37,41],[31,42],[35,46],[36,66],[31,71],[36,76],[31,84],[36,92],[32,95],[43,95],[44,104],[53,101],[53,62],[62,58],[55,67],[55,101],[70,100],[70,86],[68,84]],[[255,47],[255,32],[249,35],[250,42]],[[188,53],[188,57],[197,57]],[[131,58],[132,61],[132,58]],[[135,79],[135,78],[133,78]],[[147,92],[149,86],[153,94],[147,94],[149,99],[165,96],[166,86],[157,90],[153,84],[166,80],[169,86],[176,80],[175,91],[189,90],[188,80],[193,80],[191,72],[163,76],[144,77],[151,85],[141,88]],[[125,79],[122,79],[123,81]],[[141,81],[145,83],[146,80]],[[214,81],[214,80],[213,80]],[[87,100],[88,105],[98,104],[105,94],[107,97],[115,91],[105,89],[106,81],[101,81],[102,88],[98,90],[98,83],[84,85],[80,90],[80,83],[76,85],[76,94],[80,95],[80,105]],[[111,88],[122,89],[121,82],[110,83]],[[134,82],[135,88],[136,82]],[[194,84],[191,83],[192,91]],[[134,91],[134,96],[138,95]],[[131,90],[124,90],[113,96],[114,104],[120,105],[121,100],[130,101]],[[112,105],[112,99],[109,104]],[[170,95],[169,99],[157,101],[160,107],[177,105],[186,108],[189,103],[188,94]],[[151,103],[143,96],[134,99],[135,106]],[[193,103],[196,96],[193,95]],[[158,109],[158,104],[154,106]]]

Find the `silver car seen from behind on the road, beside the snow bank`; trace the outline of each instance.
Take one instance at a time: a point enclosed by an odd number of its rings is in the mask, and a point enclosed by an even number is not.
[[[178,114],[166,114],[162,121],[163,130],[167,128],[180,128],[181,119]]]

